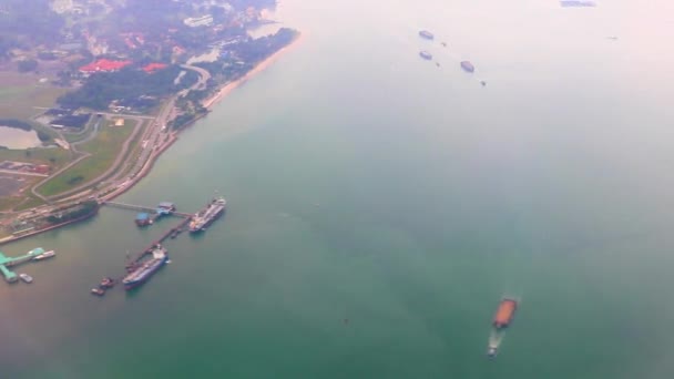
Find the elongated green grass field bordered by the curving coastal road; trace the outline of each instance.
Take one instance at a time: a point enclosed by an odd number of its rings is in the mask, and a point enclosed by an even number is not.
[[[124,126],[103,126],[95,139],[79,146],[92,154],[38,188],[43,196],[53,196],[75,188],[102,175],[114,163],[122,145],[133,132],[133,122]]]

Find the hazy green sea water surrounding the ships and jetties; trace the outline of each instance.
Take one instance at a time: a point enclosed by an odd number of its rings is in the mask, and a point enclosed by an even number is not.
[[[0,284],[0,377],[674,376],[672,2],[273,14],[300,41],[119,198],[191,213],[222,194],[225,216],[102,298],[177,218],[104,207],[0,246],[58,254]],[[519,307],[488,359],[503,297]]]

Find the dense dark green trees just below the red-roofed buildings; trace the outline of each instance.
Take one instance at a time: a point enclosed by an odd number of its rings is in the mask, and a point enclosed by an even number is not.
[[[196,75],[188,72],[180,84],[174,84],[181,70],[180,66],[173,65],[151,74],[135,68],[126,68],[118,72],[100,72],[91,75],[80,89],[59,98],[58,103],[68,109],[89,107],[99,111],[108,109],[113,100],[151,106],[159,100],[141,102],[139,99],[168,95],[196,82]]]

